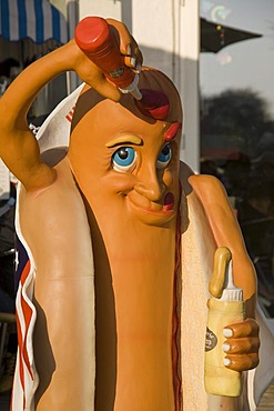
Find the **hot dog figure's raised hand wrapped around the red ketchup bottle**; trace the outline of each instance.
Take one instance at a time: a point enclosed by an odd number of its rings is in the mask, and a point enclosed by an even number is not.
[[[141,71],[143,57],[128,28],[120,21],[113,19],[106,19],[106,21],[119,44],[124,64],[134,72]],[[71,70],[74,70],[83,82],[94,88],[102,96],[119,101],[121,98],[119,89],[108,80],[103,71],[80,50],[75,40],[71,40],[65,47],[68,49]]]

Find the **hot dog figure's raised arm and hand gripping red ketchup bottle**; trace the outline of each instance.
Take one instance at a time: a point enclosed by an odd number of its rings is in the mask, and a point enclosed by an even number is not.
[[[134,66],[131,53],[138,53],[141,59],[134,39],[124,24],[115,20],[109,20],[109,23],[120,34],[120,51],[128,54],[125,63]],[[54,169],[40,159],[38,142],[28,127],[27,113],[39,91],[64,71],[75,71],[83,82],[106,98],[118,101],[121,97],[116,87],[78,48],[74,39],[24,69],[0,99],[0,157],[27,190],[47,187],[55,179]]]

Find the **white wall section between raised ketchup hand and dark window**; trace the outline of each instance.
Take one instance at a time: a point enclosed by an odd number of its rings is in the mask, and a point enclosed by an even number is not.
[[[168,74],[184,108],[181,158],[199,171],[199,0],[133,0],[132,32],[144,63]]]

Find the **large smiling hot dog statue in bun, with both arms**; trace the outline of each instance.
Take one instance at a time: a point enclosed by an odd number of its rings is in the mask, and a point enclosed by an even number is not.
[[[142,63],[135,41],[122,23],[108,23],[135,73],[126,56],[131,49]],[[67,70],[84,86],[37,141],[26,114]],[[243,409],[241,397],[204,390],[207,283],[216,248],[227,247],[246,320],[226,327],[226,367],[251,370],[255,272],[221,183],[180,162],[175,87],[143,68],[138,88],[141,100],[122,93],[71,40],[28,67],[0,100],[0,153],[21,181],[17,229],[30,255],[17,301],[13,411]]]

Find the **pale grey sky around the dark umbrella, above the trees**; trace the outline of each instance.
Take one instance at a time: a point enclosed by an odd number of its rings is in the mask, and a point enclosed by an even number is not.
[[[202,96],[251,88],[267,101],[274,119],[274,0],[201,0],[200,13],[206,20],[262,34],[219,53],[201,53]]]

